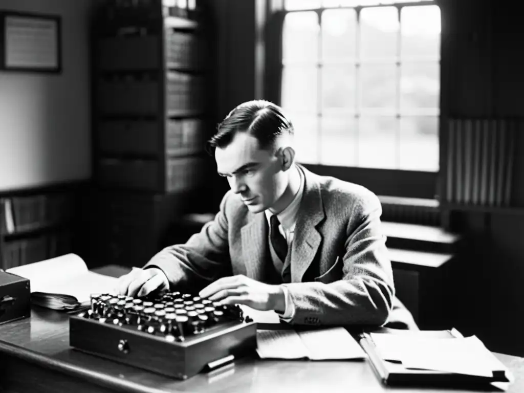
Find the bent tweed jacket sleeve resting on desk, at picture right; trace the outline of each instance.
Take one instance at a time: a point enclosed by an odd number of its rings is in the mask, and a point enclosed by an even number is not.
[[[355,204],[345,234],[342,279],[287,285],[295,312],[291,323],[384,325],[395,287],[385,236],[380,228],[380,201],[371,193]],[[335,264],[336,264],[335,263]],[[331,270],[331,269],[330,269]],[[326,275],[324,275],[326,276]]]

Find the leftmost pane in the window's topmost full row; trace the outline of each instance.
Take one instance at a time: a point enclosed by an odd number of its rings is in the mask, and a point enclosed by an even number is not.
[[[282,60],[318,61],[319,18],[315,12],[294,12],[284,19]]]

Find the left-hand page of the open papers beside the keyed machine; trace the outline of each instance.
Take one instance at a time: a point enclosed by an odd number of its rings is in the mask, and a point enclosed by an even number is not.
[[[257,353],[263,359],[308,357],[307,348],[294,330],[257,330]]]

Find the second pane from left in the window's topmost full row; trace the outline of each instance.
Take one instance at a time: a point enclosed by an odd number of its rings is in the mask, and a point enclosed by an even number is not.
[[[322,13],[324,60],[355,58],[357,14],[354,9],[329,9]]]

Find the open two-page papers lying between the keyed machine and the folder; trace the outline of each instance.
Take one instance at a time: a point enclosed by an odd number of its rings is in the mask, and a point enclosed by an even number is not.
[[[278,359],[363,359],[367,355],[344,328],[258,330],[257,353],[261,358]]]

